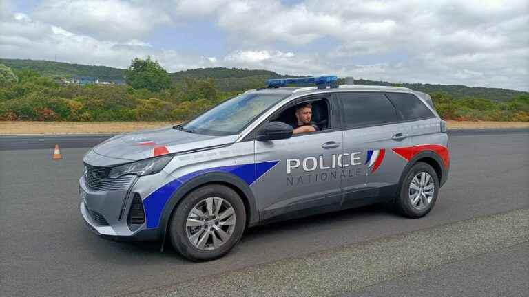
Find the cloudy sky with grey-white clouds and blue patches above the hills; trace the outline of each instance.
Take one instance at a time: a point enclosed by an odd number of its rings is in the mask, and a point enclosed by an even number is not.
[[[528,0],[0,0],[0,57],[529,91]]]

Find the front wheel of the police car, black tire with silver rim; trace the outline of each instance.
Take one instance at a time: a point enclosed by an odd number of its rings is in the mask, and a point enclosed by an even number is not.
[[[246,226],[245,205],[231,188],[209,184],[187,194],[169,224],[175,250],[191,261],[210,261],[240,241]]]

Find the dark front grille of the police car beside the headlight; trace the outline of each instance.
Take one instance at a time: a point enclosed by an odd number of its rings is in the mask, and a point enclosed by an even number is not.
[[[123,175],[116,179],[108,178],[111,167],[96,167],[85,164],[85,179],[90,188],[95,190],[125,190],[128,188],[134,175]]]

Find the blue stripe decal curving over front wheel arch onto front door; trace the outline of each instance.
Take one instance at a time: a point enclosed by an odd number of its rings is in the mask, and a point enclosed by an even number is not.
[[[183,175],[170,181],[165,184],[158,190],[152,192],[145,200],[143,200],[143,206],[145,207],[145,219],[147,220],[147,228],[157,228],[160,224],[160,217],[165,207],[165,203],[169,201],[169,198],[172,197],[173,193],[182,186],[186,181],[203,175],[210,172],[225,172],[231,173],[240,177],[248,185],[251,185],[256,181],[261,175],[267,173],[273,166],[278,164],[279,161],[270,161],[270,162],[260,162],[257,164],[242,164],[242,165],[231,165],[231,166],[221,166],[214,168],[207,168],[203,170],[198,170],[187,175]]]

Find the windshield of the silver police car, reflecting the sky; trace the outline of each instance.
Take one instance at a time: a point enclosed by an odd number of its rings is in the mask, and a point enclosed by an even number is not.
[[[199,115],[181,129],[206,135],[237,134],[258,115],[286,97],[284,94],[241,94]]]

